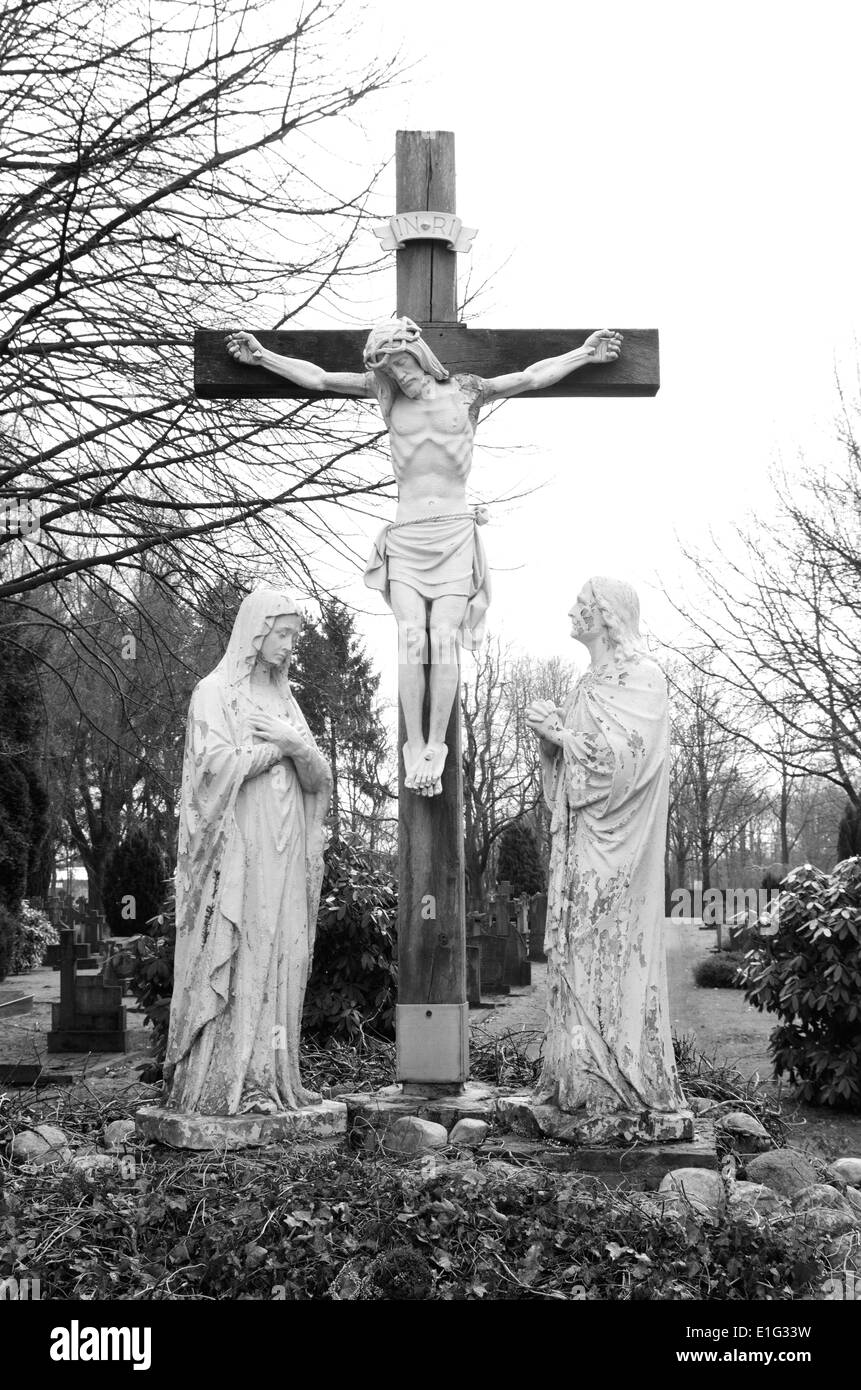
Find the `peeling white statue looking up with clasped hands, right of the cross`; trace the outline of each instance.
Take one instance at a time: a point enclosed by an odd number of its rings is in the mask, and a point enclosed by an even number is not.
[[[548,1031],[536,1101],[576,1116],[570,1137],[683,1138],[691,1122],[662,938],[666,680],[644,651],[630,585],[590,580],[570,617],[591,664],[563,709],[537,701],[527,710],[552,812]]]

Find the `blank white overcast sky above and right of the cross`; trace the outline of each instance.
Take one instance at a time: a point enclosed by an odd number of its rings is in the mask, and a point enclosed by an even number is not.
[[[476,496],[544,484],[483,531],[491,627],[573,657],[565,613],[604,573],[668,634],[654,587],[683,582],[677,537],[766,514],[776,459],[835,456],[861,324],[861,7],[370,0],[367,40],[419,63],[363,110],[369,160],[398,128],[455,131],[473,275],[499,267],[473,324],[661,331],[655,399],[510,402],[480,427]],[[394,211],[394,168],[381,192]],[[394,267],[391,295],[384,317]],[[344,592],[391,698],[388,610]]]

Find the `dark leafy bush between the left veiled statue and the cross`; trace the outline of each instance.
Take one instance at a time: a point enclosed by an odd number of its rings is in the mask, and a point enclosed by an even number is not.
[[[367,851],[345,841],[325,853],[303,1031],[325,1041],[395,1033],[398,890]]]

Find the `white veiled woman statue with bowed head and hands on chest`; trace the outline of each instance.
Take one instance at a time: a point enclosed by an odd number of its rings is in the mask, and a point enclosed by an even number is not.
[[[277,1113],[320,1101],[299,1026],[331,778],[289,688],[289,594],[243,599],[188,712],[177,865],[168,1105]]]

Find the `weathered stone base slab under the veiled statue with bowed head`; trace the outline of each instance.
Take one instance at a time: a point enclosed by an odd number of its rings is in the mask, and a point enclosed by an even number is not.
[[[192,1115],[164,1105],[143,1105],[135,1115],[135,1129],[139,1138],[168,1148],[259,1148],[345,1134],[346,1105],[321,1101],[278,1115]]]

